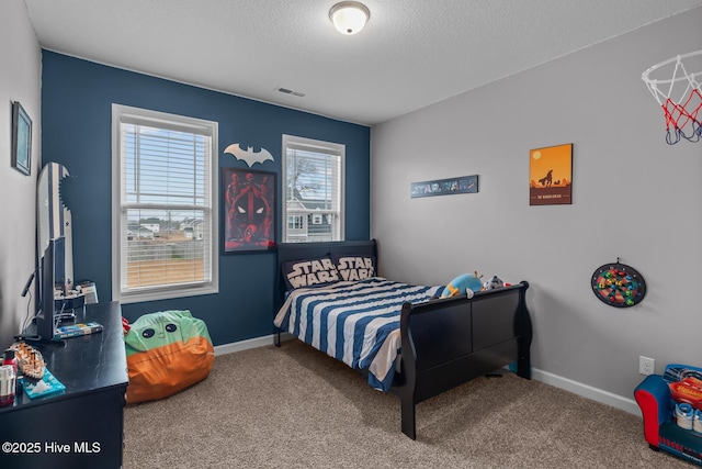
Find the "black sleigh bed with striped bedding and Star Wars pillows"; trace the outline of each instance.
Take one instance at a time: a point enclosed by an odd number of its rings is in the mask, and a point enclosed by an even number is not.
[[[398,395],[412,439],[418,403],[508,365],[531,379],[526,281],[435,298],[378,277],[375,241],[281,243],[278,265],[275,345],[290,333]]]

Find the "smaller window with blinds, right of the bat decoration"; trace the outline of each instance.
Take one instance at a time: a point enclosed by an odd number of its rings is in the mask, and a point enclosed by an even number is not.
[[[340,144],[283,135],[286,243],[343,241],[343,166]]]

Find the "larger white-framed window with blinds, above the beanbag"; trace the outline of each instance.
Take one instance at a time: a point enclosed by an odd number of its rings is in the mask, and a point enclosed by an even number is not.
[[[113,104],[113,298],[217,291],[217,123]]]

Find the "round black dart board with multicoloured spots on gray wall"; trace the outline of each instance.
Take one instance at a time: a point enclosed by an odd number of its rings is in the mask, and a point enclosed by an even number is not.
[[[605,304],[629,308],[641,303],[646,294],[646,281],[633,267],[605,264],[592,273],[592,292]]]

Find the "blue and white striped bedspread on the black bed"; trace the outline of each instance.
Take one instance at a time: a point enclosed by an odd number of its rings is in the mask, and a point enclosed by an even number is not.
[[[381,277],[296,289],[275,315],[283,331],[351,368],[369,370],[369,384],[387,391],[400,348],[403,303],[441,294],[443,287],[399,283]]]

